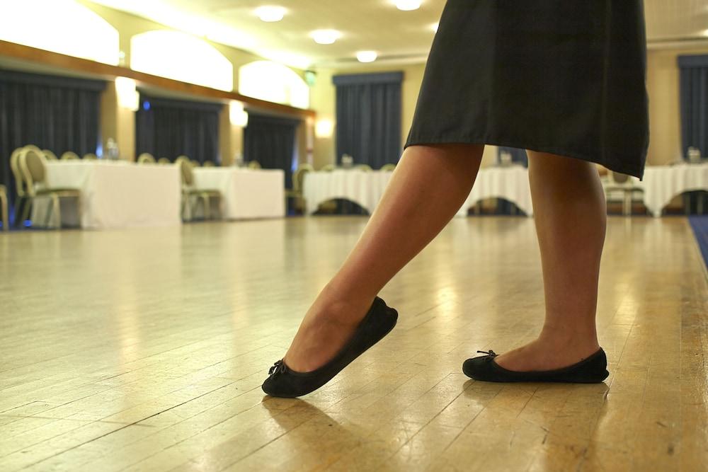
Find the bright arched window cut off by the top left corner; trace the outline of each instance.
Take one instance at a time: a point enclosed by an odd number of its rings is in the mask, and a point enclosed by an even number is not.
[[[118,65],[118,30],[74,0],[4,1],[0,40]]]

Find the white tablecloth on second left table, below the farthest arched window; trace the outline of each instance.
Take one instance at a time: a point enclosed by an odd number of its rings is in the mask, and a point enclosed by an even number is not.
[[[222,193],[226,219],[285,216],[285,172],[280,169],[195,168],[194,185]]]

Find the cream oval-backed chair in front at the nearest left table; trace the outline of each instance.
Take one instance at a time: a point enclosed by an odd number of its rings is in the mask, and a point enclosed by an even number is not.
[[[62,226],[61,205],[62,198],[75,198],[78,213],[81,215],[81,192],[75,188],[49,188],[47,187],[47,168],[44,154],[34,149],[25,148],[19,157],[20,170],[26,185],[26,192],[30,200],[38,197],[48,197],[52,205],[47,211],[45,227],[49,226],[51,217],[56,214],[59,221],[59,228]]]

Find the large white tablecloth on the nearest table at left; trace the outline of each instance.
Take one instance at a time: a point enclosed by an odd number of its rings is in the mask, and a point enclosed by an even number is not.
[[[150,166],[125,161],[59,161],[47,163],[50,188],[81,192],[81,214],[73,199],[62,199],[62,224],[84,229],[115,229],[181,224],[181,181],[176,166]],[[44,224],[48,200],[33,205],[33,221]],[[56,217],[56,215],[54,215]],[[53,224],[57,224],[56,219]]]

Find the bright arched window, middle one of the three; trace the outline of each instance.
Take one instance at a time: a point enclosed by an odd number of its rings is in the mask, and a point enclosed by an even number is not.
[[[130,68],[155,76],[234,90],[234,67],[208,42],[178,31],[158,30],[130,40]]]

